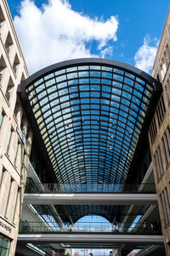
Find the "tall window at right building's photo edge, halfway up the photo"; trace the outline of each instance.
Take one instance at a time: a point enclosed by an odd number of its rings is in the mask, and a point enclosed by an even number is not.
[[[169,130],[169,126],[167,126],[167,129],[164,132],[161,142],[163,145],[165,162],[166,162],[166,166],[167,166],[170,164],[170,130]]]

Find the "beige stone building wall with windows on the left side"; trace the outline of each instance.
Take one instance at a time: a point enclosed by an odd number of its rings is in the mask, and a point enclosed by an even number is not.
[[[26,63],[5,0],[0,1],[0,234],[14,255],[31,150],[31,129],[17,97],[28,77]],[[26,139],[26,142],[25,142]]]

